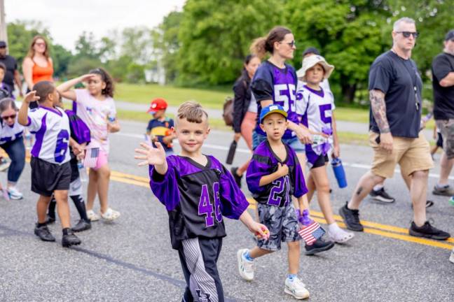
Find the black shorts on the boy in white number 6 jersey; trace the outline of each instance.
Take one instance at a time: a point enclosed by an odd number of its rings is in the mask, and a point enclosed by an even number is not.
[[[71,183],[69,161],[58,165],[32,157],[30,166],[32,166],[32,191],[36,194],[52,196],[55,190],[69,189]]]

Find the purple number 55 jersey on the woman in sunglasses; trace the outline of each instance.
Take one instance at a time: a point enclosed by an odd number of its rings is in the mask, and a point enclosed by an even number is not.
[[[260,116],[261,104],[263,100],[272,99],[273,103],[279,104],[287,111],[287,120],[299,124],[298,115],[296,115],[296,77],[295,69],[285,64],[284,69],[280,69],[274,64],[265,61],[257,69],[251,83],[252,94],[257,102],[257,117]],[[260,129],[260,121],[257,118],[255,131],[263,136],[265,132]],[[295,136],[291,130],[287,129],[283,138],[292,138]]]

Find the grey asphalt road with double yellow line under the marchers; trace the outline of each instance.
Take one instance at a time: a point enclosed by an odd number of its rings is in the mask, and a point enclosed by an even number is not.
[[[58,223],[50,227],[56,243],[34,236],[37,195],[29,191],[29,164],[18,184],[25,199],[0,199],[0,301],[181,301],[184,278],[177,252],[170,247],[167,213],[147,185],[148,169],[137,167],[133,158],[146,125],[122,126],[121,133],[111,136],[115,172],[109,190],[111,207],[121,217],[112,224],[94,222],[90,231],[80,233],[80,246],[61,247]],[[212,131],[204,151],[225,160],[231,138],[230,133]],[[248,156],[241,143],[234,164]],[[366,172],[371,150],[342,145],[341,157],[348,188],[338,189],[329,171],[336,213]],[[429,191],[439,168],[431,173]],[[0,179],[5,183],[6,173]],[[448,257],[454,239],[439,243],[408,236],[412,210],[399,173],[387,180],[386,188],[397,202],[366,199],[361,208],[365,233],[355,233],[350,243],[317,256],[301,254],[299,276],[308,286],[310,301],[453,301],[454,264]],[[454,207],[430,192],[428,198],[435,202],[428,217],[454,236]],[[312,209],[317,215],[316,201]],[[71,217],[78,219],[74,207]],[[287,248],[258,259],[256,279],[246,282],[238,275],[235,254],[253,247],[254,241],[238,221],[226,219],[226,228],[218,267],[228,301],[294,301],[283,291]]]

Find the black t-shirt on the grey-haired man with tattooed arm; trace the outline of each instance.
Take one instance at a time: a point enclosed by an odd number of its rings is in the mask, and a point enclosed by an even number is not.
[[[392,136],[417,138],[421,122],[422,80],[415,62],[392,51],[380,55],[369,71],[369,90],[372,89],[385,93],[386,116]],[[372,108],[369,129],[380,133]]]

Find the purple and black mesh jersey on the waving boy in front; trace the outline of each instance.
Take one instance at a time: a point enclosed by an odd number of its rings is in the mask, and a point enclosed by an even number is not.
[[[226,236],[222,217],[238,219],[249,202],[233,176],[214,157],[202,166],[188,157],[170,155],[167,173],[150,169],[150,187],[169,214],[172,247],[181,240]]]

